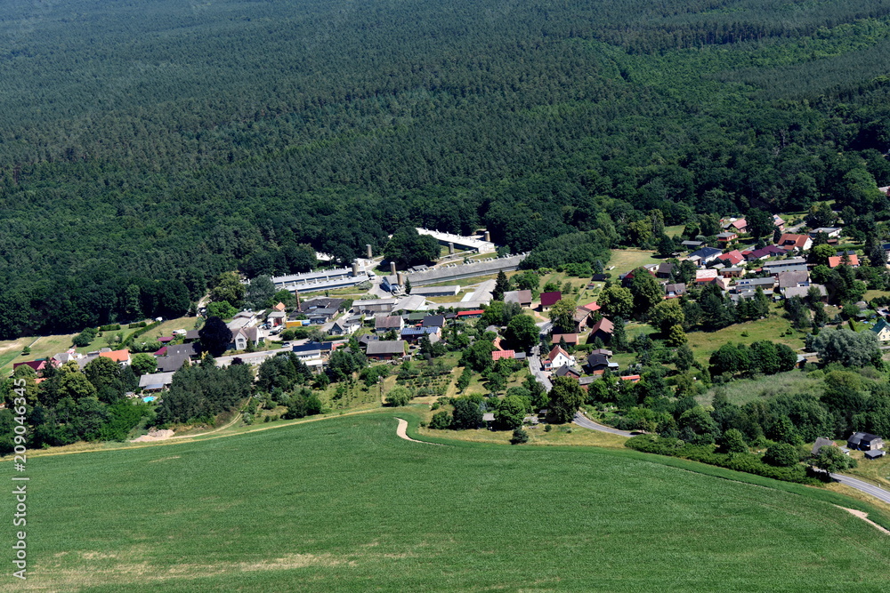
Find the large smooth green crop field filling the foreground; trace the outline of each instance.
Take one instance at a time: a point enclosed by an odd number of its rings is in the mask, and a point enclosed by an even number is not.
[[[15,589],[886,589],[886,535],[835,506],[886,523],[861,501],[631,451],[410,443],[395,415],[36,457]]]

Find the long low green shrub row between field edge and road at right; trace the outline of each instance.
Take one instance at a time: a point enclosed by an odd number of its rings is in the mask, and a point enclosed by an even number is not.
[[[808,485],[819,484],[819,480],[807,476],[806,469],[802,465],[798,464],[790,468],[776,468],[765,464],[763,461],[760,461],[759,457],[751,453],[717,453],[714,445],[689,445],[678,438],[638,435],[627,439],[625,446],[643,453],[681,457],[690,461],[716,465],[721,468],[744,471],[756,476],[772,477],[785,482],[797,482],[797,484]]]

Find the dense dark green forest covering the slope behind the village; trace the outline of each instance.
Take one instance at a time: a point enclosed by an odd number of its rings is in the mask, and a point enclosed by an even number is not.
[[[595,257],[653,210],[886,219],[888,63],[890,0],[8,3],[0,337],[406,225]]]

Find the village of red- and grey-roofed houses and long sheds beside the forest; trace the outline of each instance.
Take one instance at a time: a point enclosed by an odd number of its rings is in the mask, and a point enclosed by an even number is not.
[[[442,246],[441,260],[434,265],[398,270],[394,262],[374,258],[368,245],[368,257],[354,260],[351,267],[272,277],[276,295],[288,298],[282,297],[265,309],[237,311],[226,319],[231,339],[223,354],[214,357],[214,365],[259,367],[284,355],[298,359],[318,375],[328,371],[338,350],[360,349],[371,365],[397,365],[429,359],[433,345],[438,344],[444,351],[490,341],[490,352],[485,356],[490,357],[491,365],[501,368],[498,365],[509,361],[513,365],[510,369],[528,369],[544,393],[554,389],[554,381],[565,380],[574,381],[585,393],[596,381],[617,380],[635,385],[643,379],[643,365],[634,362],[634,349],[627,346],[628,333],[633,333],[635,339],[650,334],[667,335],[667,328],[658,333],[658,324],[652,320],[658,317],[654,308],[643,319],[635,320],[630,305],[616,304],[619,289],[629,294],[636,275],[651,277],[651,284],[659,291],[656,301],[665,303],[700,300],[707,288],[718,293],[728,307],[761,300],[781,308],[784,301],[797,300],[823,311],[835,309],[826,304],[833,288],[816,282],[813,275],[820,273],[816,268],[854,270],[862,265],[862,251],[840,247],[841,227],[805,228],[797,232],[803,227],[801,223],[786,229],[779,216],[773,217],[773,225],[773,244],[757,246],[745,240],[745,219],[725,219],[722,232],[713,237],[712,243],[701,240],[705,237],[677,241],[678,251],[671,257],[657,260],[653,254],[643,252],[651,262],[629,269],[599,269],[574,281],[568,281],[567,275],[554,276],[555,270],[522,271],[527,253],[498,254],[497,245],[490,242],[484,231],[478,236],[462,237],[418,228],[419,233],[433,236]],[[883,249],[886,259],[890,244],[883,245]],[[824,273],[824,269],[821,271]],[[558,279],[546,281],[547,277],[557,276],[562,277],[562,284]],[[245,290],[250,282],[241,278]],[[499,311],[505,307],[510,308],[513,317],[527,316],[533,320],[533,337],[522,343],[517,341],[515,331],[502,322],[505,317],[500,317]],[[556,309],[561,312],[556,314]],[[144,351],[146,342],[137,342],[142,346],[139,353],[110,346],[87,352],[72,348],[51,357],[17,361],[12,371],[26,365],[39,383],[48,366],[58,369],[76,364],[83,371],[96,358],[107,358],[121,367],[138,360],[138,389],[127,396],[160,403],[176,373],[183,367],[198,365],[206,357],[199,331],[208,317],[206,306],[198,313],[194,328],[177,327],[155,339],[146,338],[147,342],[157,340],[160,345],[151,352]],[[847,308],[845,313],[851,312]],[[872,307],[866,301],[856,301],[850,323],[858,324],[859,331],[873,333],[878,341],[887,342],[890,324],[886,322],[886,313],[885,306]],[[838,315],[831,317],[839,321]],[[142,322],[148,325],[141,331],[163,321]],[[677,330],[679,339],[675,335],[667,341],[674,348],[686,341],[682,329]],[[622,334],[619,340],[616,331]],[[615,351],[616,344],[624,353]],[[711,350],[716,346],[719,344]],[[793,366],[797,368],[820,363],[813,350],[795,349],[794,355]],[[383,396],[381,389],[380,403],[385,402]],[[481,418],[491,427],[496,413],[489,407],[490,411],[482,413]],[[547,412],[545,408],[527,410],[522,414],[522,423],[537,426],[546,421]],[[610,429],[598,422],[591,426]],[[813,453],[828,442],[820,438],[821,442],[813,445]],[[879,436],[857,432],[850,439],[849,447],[866,451],[866,459],[884,454]],[[849,449],[844,451],[848,453]]]

